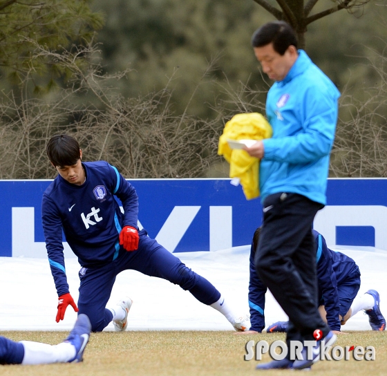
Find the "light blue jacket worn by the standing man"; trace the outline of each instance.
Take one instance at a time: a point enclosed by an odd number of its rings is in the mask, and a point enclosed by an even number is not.
[[[263,140],[262,202],[271,194],[291,192],[325,205],[339,97],[336,86],[299,50],[286,77],[267,93],[273,136]]]

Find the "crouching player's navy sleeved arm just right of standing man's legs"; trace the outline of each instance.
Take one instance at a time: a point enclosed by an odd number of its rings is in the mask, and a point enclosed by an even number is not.
[[[326,319],[331,330],[340,330],[339,319],[339,293],[337,290],[336,274],[332,267],[330,250],[321,234],[316,238],[317,242],[317,282],[321,292],[326,312]]]

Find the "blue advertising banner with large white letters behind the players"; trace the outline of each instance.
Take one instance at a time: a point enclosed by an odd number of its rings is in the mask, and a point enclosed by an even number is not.
[[[0,180],[0,256],[46,257],[41,196],[52,180]],[[251,243],[261,202],[230,179],[129,180],[139,227],[170,252],[216,251]],[[387,179],[330,179],[314,228],[328,245],[387,250]],[[73,256],[64,239],[66,256]]]

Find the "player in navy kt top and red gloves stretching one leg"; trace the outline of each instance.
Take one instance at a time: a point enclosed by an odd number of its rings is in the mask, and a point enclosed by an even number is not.
[[[93,332],[113,321],[126,330],[130,298],[106,308],[117,274],[137,270],[167,279],[191,292],[198,301],[221,312],[236,330],[246,330],[249,318],[237,315],[214,285],[168,252],[147,231],[138,231],[138,196],[134,187],[108,162],[82,162],[82,150],[69,135],[56,135],[46,147],[59,175],[43,194],[42,220],[51,272],[59,297],[56,321],[64,319],[68,305],[87,314]],[[115,197],[124,209],[120,210]],[[71,297],[64,266],[62,229],[78,257],[78,308]]]

